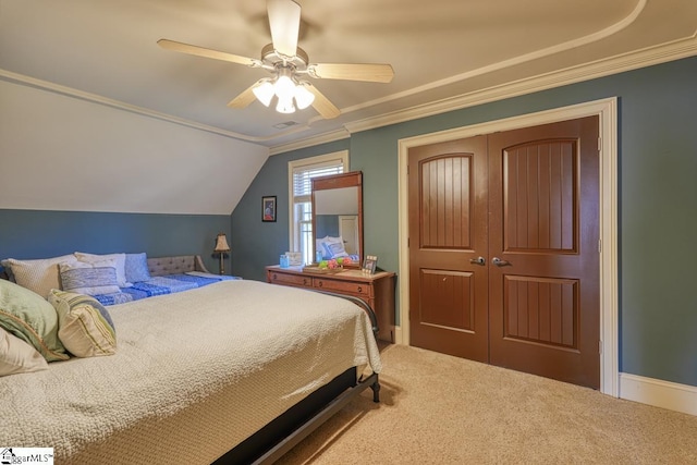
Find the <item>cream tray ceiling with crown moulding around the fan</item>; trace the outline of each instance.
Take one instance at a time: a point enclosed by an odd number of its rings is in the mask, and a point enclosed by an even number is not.
[[[390,84],[315,79],[342,114],[227,103],[262,70],[262,0],[0,0],[0,78],[170,119],[271,150],[697,54],[695,0],[298,0],[311,63],[390,63]],[[293,121],[288,129],[273,125]]]

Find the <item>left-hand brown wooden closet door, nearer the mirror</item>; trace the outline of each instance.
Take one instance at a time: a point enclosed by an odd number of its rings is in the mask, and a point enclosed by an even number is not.
[[[411,344],[488,362],[486,137],[408,152]]]

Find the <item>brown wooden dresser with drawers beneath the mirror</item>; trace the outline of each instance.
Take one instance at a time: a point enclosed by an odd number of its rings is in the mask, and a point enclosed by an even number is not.
[[[378,339],[394,342],[394,281],[395,274],[379,271],[364,274],[360,270],[338,273],[303,272],[302,267],[266,267],[266,280],[273,284],[315,287],[338,294],[359,297],[370,305],[378,319]]]

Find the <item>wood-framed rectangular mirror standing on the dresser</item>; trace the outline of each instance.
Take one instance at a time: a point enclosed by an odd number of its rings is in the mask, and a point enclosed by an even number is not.
[[[363,173],[352,171],[313,179],[313,257],[348,255],[351,265],[363,262]]]

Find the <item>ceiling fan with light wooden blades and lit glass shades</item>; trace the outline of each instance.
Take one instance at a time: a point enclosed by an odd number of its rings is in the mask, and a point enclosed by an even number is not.
[[[390,64],[368,63],[318,63],[310,64],[305,50],[297,47],[301,23],[301,5],[293,0],[267,0],[272,44],[261,49],[261,59],[241,57],[174,40],[160,39],[164,49],[215,60],[260,68],[271,77],[265,77],[232,99],[228,107],[243,109],[255,97],[265,106],[277,99],[277,111],[292,113],[295,107],[305,109],[310,105],[323,118],[337,118],[340,110],[325,97],[305,76],[321,79],[346,79],[389,83],[394,76]]]

